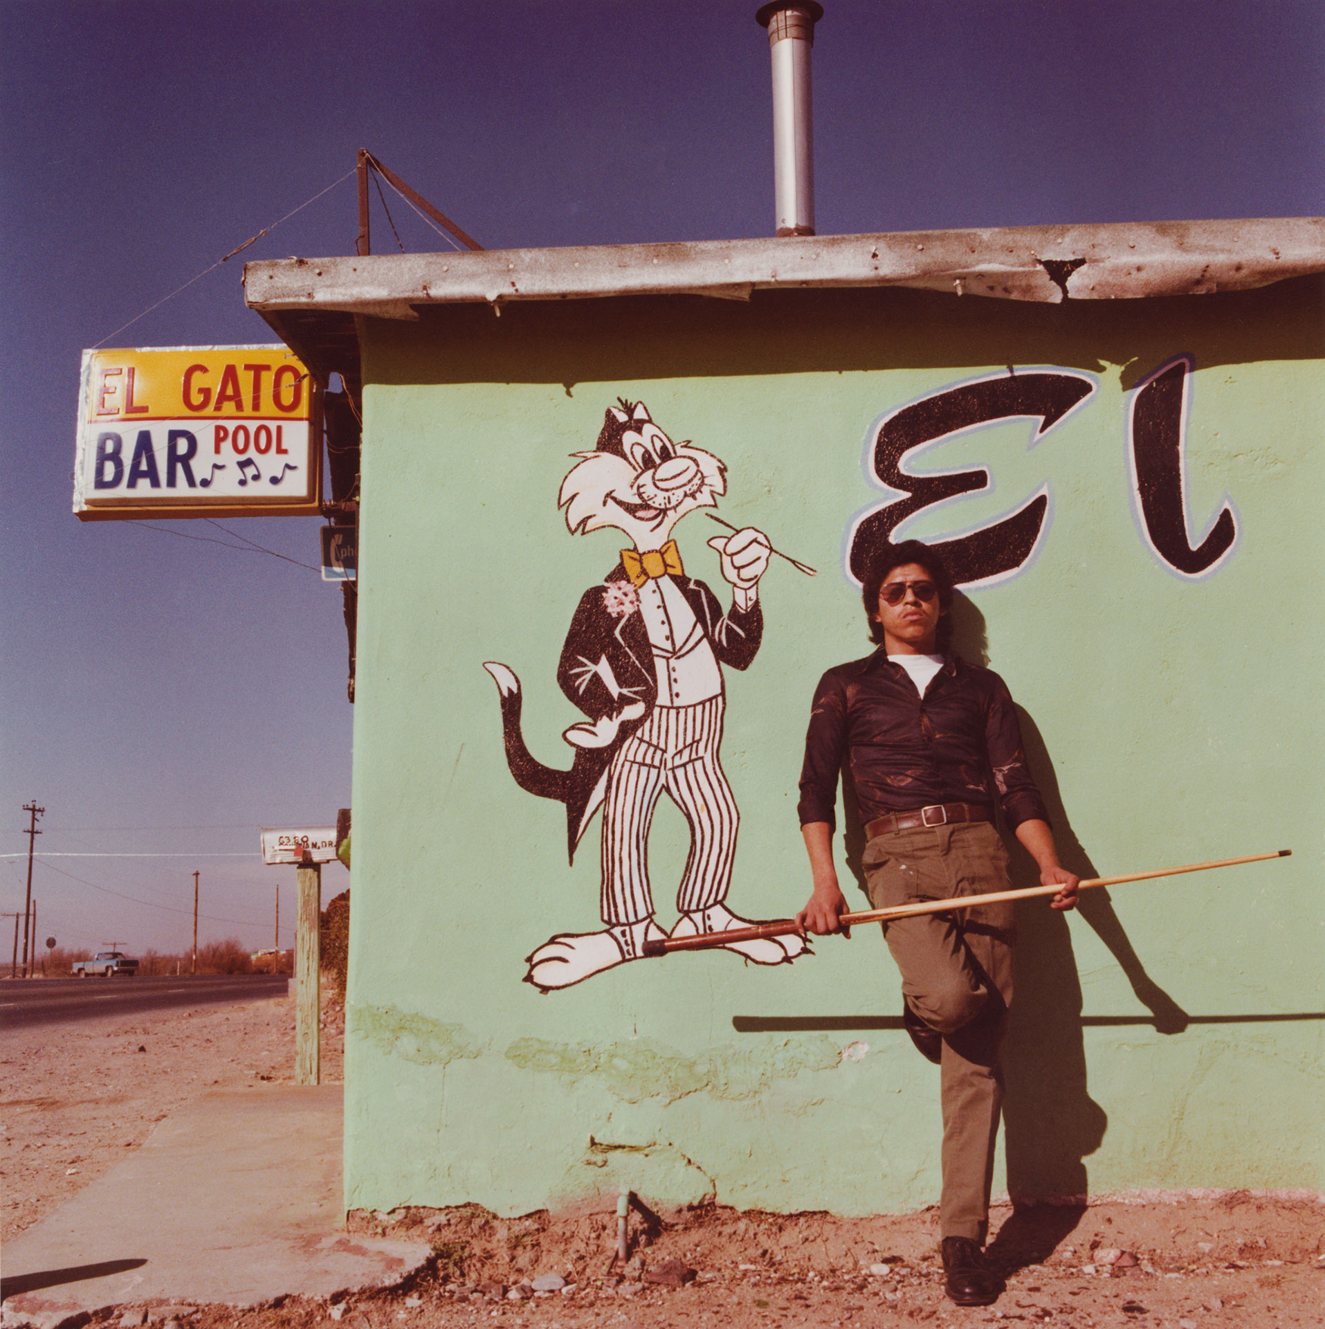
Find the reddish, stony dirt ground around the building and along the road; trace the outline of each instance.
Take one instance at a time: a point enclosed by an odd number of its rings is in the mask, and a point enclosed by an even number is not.
[[[4,1235],[106,1172],[193,1095],[213,1084],[288,1080],[292,1025],[292,1002],[266,1001],[5,1034]],[[323,1037],[328,1080],[340,1078],[343,1027],[332,1005]],[[473,1205],[355,1213],[351,1231],[424,1237],[433,1257],[391,1288],[249,1309],[132,1305],[92,1318],[116,1329],[146,1321],[163,1329],[1325,1325],[1320,1197],[1237,1191],[997,1207],[991,1259],[1007,1290],[975,1309],[944,1296],[933,1209],[839,1219],[642,1208],[629,1223],[631,1256],[621,1265],[614,1209],[514,1219]]]

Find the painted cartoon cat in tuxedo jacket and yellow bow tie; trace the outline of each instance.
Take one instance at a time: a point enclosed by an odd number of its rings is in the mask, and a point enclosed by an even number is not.
[[[615,528],[631,542],[606,579],[581,597],[557,667],[561,690],[587,716],[562,738],[575,750],[569,769],[538,762],[520,731],[520,679],[484,666],[501,696],[506,760],[516,783],[566,805],[574,859],[602,808],[599,932],[560,933],[528,957],[525,982],[569,987],[643,954],[667,934],[654,920],[649,828],[666,792],[690,824],[690,856],[676,892],[672,937],[747,926],[724,904],[739,812],[719,763],[722,666],[743,670],[763,634],[759,578],[768,538],[754,528],[708,541],[732,587],[724,613],[716,595],[687,577],[671,533],[698,508],[716,508],[726,468],[691,443],[672,443],[642,401],[609,407],[591,452],[571,453],[557,506],[570,533]],[[801,937],[732,942],[760,965],[780,965],[808,948]]]

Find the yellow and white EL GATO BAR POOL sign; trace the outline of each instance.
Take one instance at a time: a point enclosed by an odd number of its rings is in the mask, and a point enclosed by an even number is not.
[[[84,351],[84,521],[316,514],[322,397],[283,346]]]

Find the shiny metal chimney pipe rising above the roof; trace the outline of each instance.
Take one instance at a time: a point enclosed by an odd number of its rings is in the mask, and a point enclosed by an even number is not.
[[[772,0],[755,19],[768,29],[773,61],[773,194],[779,235],[815,234],[815,130],[809,49],[824,7]]]

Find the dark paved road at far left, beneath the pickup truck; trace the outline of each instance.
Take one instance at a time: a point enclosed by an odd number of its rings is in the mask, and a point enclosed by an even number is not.
[[[284,997],[290,979],[275,974],[181,978],[29,978],[0,981],[0,1029],[70,1019],[137,1015],[179,1006]]]

